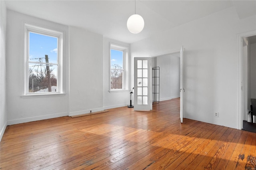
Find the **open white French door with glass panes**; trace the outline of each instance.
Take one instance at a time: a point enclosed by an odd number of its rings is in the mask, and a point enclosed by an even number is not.
[[[134,57],[134,111],[152,110],[151,57]]]

